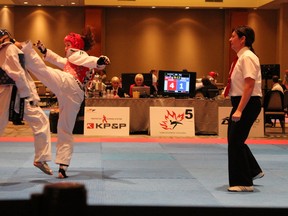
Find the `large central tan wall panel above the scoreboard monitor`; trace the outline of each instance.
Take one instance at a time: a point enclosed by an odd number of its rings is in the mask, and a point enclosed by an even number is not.
[[[223,71],[220,10],[107,9],[110,73],[151,69]]]

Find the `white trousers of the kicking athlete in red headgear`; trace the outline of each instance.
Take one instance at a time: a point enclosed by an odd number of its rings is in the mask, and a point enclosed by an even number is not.
[[[70,165],[74,145],[73,128],[84,100],[84,91],[71,74],[48,67],[31,47],[31,43],[27,44],[22,51],[25,55],[26,68],[57,97],[59,119],[55,163]]]

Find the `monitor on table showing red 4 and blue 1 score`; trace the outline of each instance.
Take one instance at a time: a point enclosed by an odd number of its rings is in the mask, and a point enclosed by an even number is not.
[[[196,72],[159,70],[158,92],[175,98],[194,97]]]

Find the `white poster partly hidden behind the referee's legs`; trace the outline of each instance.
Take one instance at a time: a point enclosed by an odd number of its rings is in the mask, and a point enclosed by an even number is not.
[[[218,136],[227,137],[228,119],[232,107],[219,107],[218,108]],[[254,122],[249,137],[264,137],[264,116],[263,108]]]

